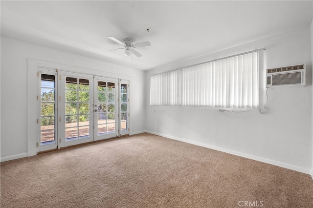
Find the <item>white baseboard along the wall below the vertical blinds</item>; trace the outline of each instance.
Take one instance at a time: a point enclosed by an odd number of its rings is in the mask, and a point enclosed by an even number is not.
[[[306,168],[303,168],[303,167],[300,167],[300,166],[294,166],[294,165],[291,165],[291,164],[287,164],[287,163],[282,163],[282,162],[279,162],[279,161],[271,160],[271,159],[268,159],[268,158],[258,157],[258,156],[254,156],[254,155],[250,155],[250,154],[234,151],[234,150],[231,150],[231,149],[225,149],[225,148],[218,147],[218,146],[211,146],[211,145],[203,144],[203,143],[200,143],[200,142],[195,142],[195,141],[191,141],[191,140],[181,139],[181,138],[178,138],[178,137],[173,137],[173,136],[160,134],[160,133],[156,133],[156,132],[152,132],[152,131],[146,131],[146,132],[147,133],[151,133],[151,134],[155,134],[155,135],[158,135],[158,136],[166,137],[166,138],[169,138],[169,139],[174,139],[174,140],[178,140],[178,141],[181,141],[181,142],[189,143],[189,144],[192,144],[192,145],[203,146],[203,147],[206,147],[206,148],[209,148],[209,149],[214,149],[214,150],[225,152],[225,153],[228,153],[228,154],[237,155],[237,156],[248,158],[248,159],[251,159],[251,160],[256,160],[256,161],[267,163],[267,164],[270,164],[270,165],[280,166],[280,167],[284,167],[284,168],[287,168],[287,169],[295,170],[295,171],[298,171],[298,172],[310,174],[310,169],[306,169]],[[311,176],[313,178],[313,172],[312,171],[313,170],[311,170]]]

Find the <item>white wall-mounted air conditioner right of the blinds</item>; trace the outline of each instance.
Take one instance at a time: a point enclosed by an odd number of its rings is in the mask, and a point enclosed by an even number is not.
[[[305,64],[267,69],[266,87],[305,85]]]

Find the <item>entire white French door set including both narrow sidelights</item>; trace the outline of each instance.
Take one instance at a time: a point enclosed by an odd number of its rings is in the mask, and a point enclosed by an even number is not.
[[[129,133],[128,81],[52,69],[38,73],[38,151]]]

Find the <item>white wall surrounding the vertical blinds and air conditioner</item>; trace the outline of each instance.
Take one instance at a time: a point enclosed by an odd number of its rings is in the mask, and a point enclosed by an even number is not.
[[[247,158],[309,173],[311,137],[311,36],[310,25],[247,42],[184,62],[160,67],[146,74],[146,130],[169,138],[206,146]],[[307,86],[270,88],[270,113],[219,112],[216,108],[150,106],[150,76],[199,62],[266,47],[265,68],[260,70],[261,105],[265,69],[307,64]]]

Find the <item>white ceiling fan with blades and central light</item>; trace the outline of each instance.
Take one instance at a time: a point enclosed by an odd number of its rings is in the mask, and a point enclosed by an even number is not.
[[[139,48],[139,47],[144,47],[144,46],[150,46],[151,45],[151,43],[149,41],[139,42],[139,43],[133,44],[133,40],[128,39],[128,38],[124,39],[123,42],[121,42],[121,41],[119,41],[116,38],[111,37],[111,36],[109,36],[108,38],[111,39],[114,42],[117,42],[118,44],[123,45],[124,46],[123,48],[116,48],[116,49],[113,49],[113,50],[124,49],[124,55],[125,56],[131,56],[132,55],[132,61],[133,61],[133,54],[136,57],[141,57],[142,56],[134,48]],[[109,51],[113,51],[113,50],[109,50]]]

